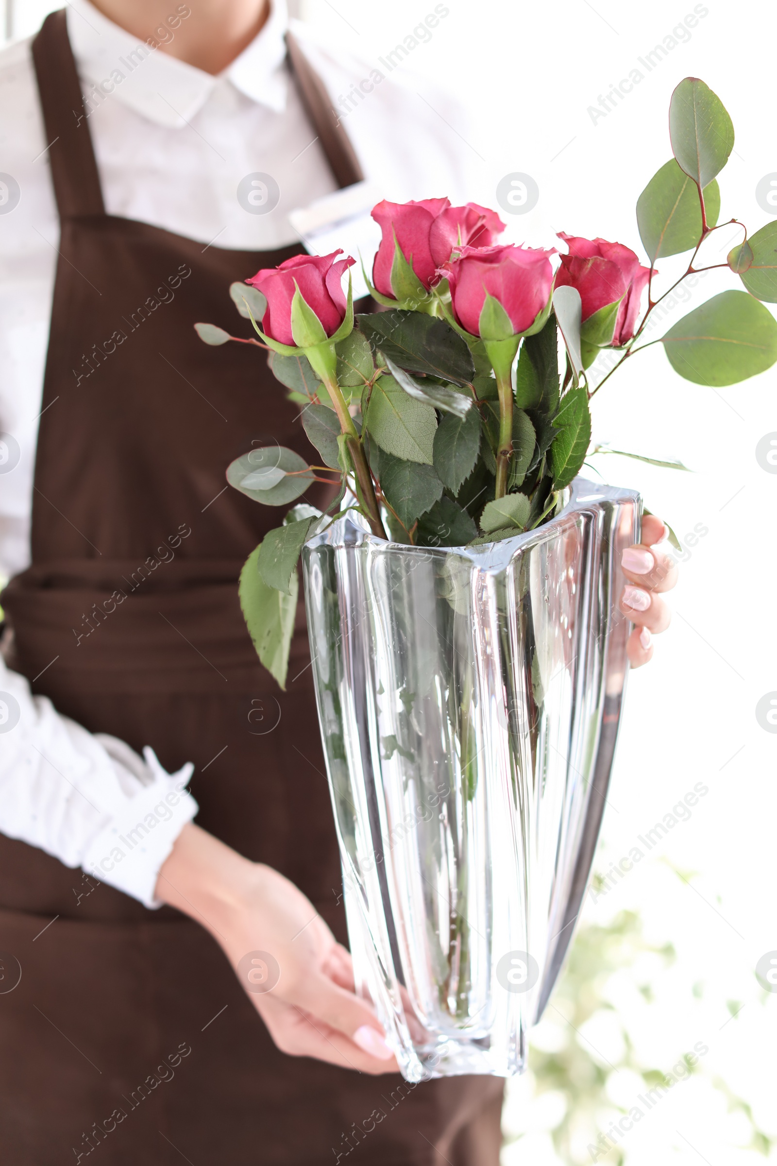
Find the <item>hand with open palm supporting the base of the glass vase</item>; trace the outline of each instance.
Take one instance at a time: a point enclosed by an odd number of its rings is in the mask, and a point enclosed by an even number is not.
[[[156,894],[213,935],[281,1052],[361,1073],[398,1070],[375,1013],[354,992],[351,955],[277,871],[190,823]]]

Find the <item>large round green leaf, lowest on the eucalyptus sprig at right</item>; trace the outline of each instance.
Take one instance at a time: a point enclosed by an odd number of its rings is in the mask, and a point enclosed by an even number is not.
[[[734,385],[777,360],[777,322],[747,292],[721,292],[662,337],[669,363],[697,385]]]

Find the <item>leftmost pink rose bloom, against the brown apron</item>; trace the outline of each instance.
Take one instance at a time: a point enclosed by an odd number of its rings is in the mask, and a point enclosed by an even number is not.
[[[267,298],[262,331],[281,344],[295,344],[291,332],[291,301],[297,288],[305,303],[312,308],[327,336],[337,332],[345,319],[346,297],[342,273],[355,259],[335,259],[342,248],[331,255],[292,255],[278,267],[263,268],[246,283],[259,288]]]

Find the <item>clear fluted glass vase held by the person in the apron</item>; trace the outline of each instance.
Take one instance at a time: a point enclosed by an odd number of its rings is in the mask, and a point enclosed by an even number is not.
[[[599,834],[640,519],[578,478],[504,542],[408,547],[345,513],[303,550],[356,982],[409,1081],[525,1066]]]

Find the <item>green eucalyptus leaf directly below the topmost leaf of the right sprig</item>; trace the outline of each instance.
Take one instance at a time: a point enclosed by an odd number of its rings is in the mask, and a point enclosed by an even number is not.
[[[707,226],[720,215],[720,189],[711,182],[704,190]],[[699,190],[673,157],[669,160],[637,198],[637,226],[650,266],[665,255],[691,251],[701,239]]]

